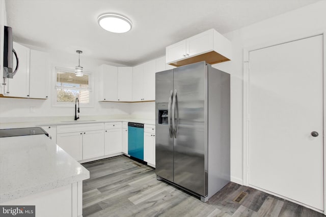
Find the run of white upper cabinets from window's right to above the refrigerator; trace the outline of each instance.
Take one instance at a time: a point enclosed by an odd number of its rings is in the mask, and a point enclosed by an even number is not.
[[[173,69],[165,56],[134,67],[102,65],[99,68],[99,101],[155,101],[155,73]]]

